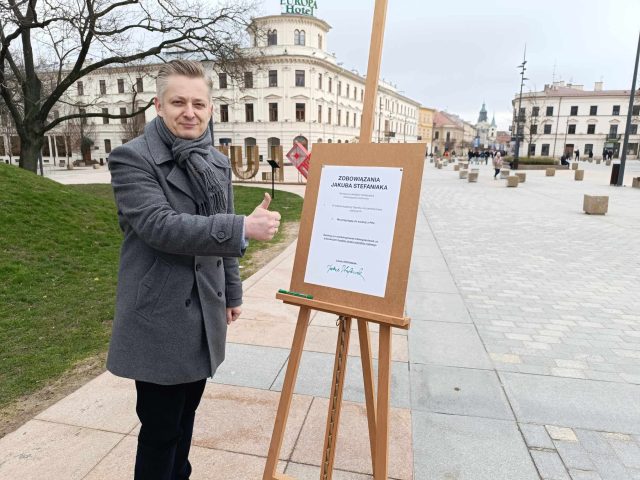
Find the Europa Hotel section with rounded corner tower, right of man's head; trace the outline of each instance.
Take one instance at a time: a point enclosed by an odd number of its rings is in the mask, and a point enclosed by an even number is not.
[[[257,18],[253,57],[258,71],[247,72],[243,88],[224,73],[214,78],[216,143],[269,145],[357,142],[366,79],[347,70],[328,51],[330,26],[302,15]],[[249,87],[247,86],[249,85]],[[416,142],[419,102],[384,82],[376,101],[374,142]]]

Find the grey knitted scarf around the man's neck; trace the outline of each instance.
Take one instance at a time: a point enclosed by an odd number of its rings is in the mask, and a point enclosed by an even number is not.
[[[205,132],[194,140],[176,137],[161,117],[154,120],[162,141],[171,149],[173,160],[187,174],[198,206],[198,215],[226,213],[227,196],[223,185],[225,175],[211,164],[211,133]]]

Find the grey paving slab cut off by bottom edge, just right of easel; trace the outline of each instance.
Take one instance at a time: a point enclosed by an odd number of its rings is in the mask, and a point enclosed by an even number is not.
[[[514,422],[413,412],[416,480],[539,480]]]

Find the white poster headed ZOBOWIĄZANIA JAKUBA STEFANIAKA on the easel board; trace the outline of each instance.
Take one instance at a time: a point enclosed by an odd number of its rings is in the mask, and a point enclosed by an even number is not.
[[[384,297],[402,168],[325,165],[304,281]]]

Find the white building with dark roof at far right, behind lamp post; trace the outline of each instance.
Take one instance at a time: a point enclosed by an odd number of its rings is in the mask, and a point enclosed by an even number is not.
[[[611,150],[618,158],[622,150],[629,90],[604,90],[602,82],[596,82],[592,91],[582,85],[555,82],[545,85],[542,92],[522,94],[520,110],[520,156],[550,156],[558,158],[564,153],[580,151],[587,157],[602,157],[603,150]],[[516,131],[518,96],[512,101]],[[638,124],[640,123],[640,98],[635,96],[629,136],[627,158],[638,158]]]

